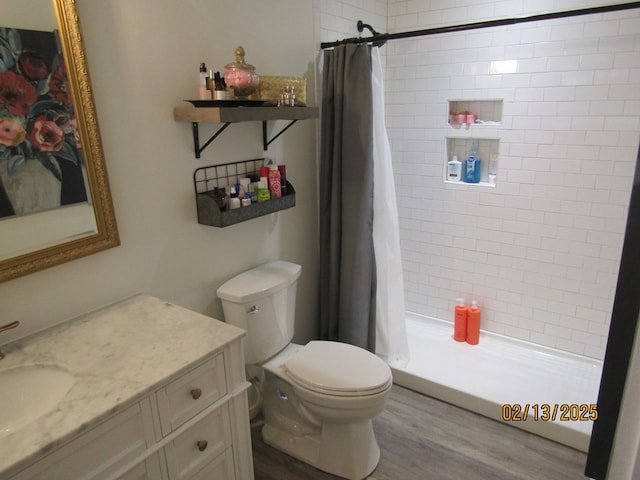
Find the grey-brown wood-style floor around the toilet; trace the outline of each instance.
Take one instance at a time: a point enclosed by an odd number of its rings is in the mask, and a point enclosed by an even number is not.
[[[374,419],[381,458],[370,480],[584,480],[586,455],[394,385]],[[330,480],[251,429],[256,480]]]

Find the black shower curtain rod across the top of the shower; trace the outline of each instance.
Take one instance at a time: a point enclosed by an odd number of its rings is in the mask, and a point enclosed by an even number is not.
[[[466,30],[476,30],[479,28],[500,27],[503,25],[516,25],[518,23],[537,22],[540,20],[551,20],[555,18],[577,17],[580,15],[591,15],[595,13],[617,12],[621,10],[631,10],[640,8],[640,2],[620,3],[617,5],[606,5],[602,7],[583,8],[577,10],[567,10],[564,12],[542,13],[539,15],[531,15],[528,17],[502,18],[498,20],[487,20],[484,22],[465,23],[461,25],[452,25],[449,27],[428,28],[426,30],[414,30],[412,32],[400,33],[378,33],[370,25],[358,21],[358,31],[362,32],[367,28],[373,35],[370,37],[352,37],[338,40],[336,42],[322,42],[320,48],[332,48],[338,45],[346,45],[348,43],[369,43],[374,46],[381,47],[387,40],[396,40],[399,38],[424,37],[435,35],[438,33],[463,32]]]

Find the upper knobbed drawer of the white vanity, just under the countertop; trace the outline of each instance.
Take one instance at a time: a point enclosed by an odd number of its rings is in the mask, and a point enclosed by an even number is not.
[[[162,435],[166,436],[227,393],[220,353],[158,391]]]

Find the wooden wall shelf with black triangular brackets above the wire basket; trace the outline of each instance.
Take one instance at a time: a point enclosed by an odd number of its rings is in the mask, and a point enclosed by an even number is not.
[[[318,107],[204,107],[198,108],[192,104],[181,105],[173,109],[173,118],[176,122],[191,122],[193,130],[193,146],[196,158],[200,158],[202,151],[213,142],[230,124],[238,122],[262,122],[262,146],[266,151],[271,142],[282,135],[298,120],[318,118]],[[271,139],[267,138],[268,120],[289,120]],[[200,133],[198,124],[223,123],[202,146],[200,146]]]

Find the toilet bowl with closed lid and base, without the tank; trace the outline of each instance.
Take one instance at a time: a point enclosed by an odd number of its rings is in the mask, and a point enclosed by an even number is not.
[[[289,344],[263,367],[265,443],[343,478],[362,479],[375,469],[380,449],[371,420],[392,384],[382,360],[352,345],[312,341]],[[373,374],[357,375],[367,367]]]

